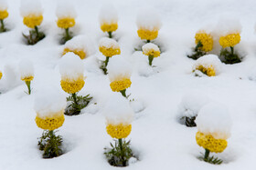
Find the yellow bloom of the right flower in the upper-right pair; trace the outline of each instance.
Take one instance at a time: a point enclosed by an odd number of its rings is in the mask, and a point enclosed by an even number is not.
[[[221,45],[223,48],[226,47],[234,47],[235,45],[240,43],[240,34],[230,34],[226,36],[221,36],[219,38],[219,45]]]

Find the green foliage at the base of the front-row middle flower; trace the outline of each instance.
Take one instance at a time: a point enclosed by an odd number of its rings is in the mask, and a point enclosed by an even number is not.
[[[111,144],[111,148],[104,148],[104,155],[108,159],[110,165],[113,166],[127,166],[131,157],[134,157],[133,151],[130,148],[130,142],[126,142],[125,139],[114,140],[115,144]]]

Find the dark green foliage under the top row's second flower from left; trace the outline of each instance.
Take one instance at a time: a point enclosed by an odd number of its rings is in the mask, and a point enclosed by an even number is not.
[[[27,39],[27,45],[35,45],[38,41],[46,37],[43,32],[38,31],[37,26],[35,27],[35,29],[29,30],[29,35],[22,35]]]

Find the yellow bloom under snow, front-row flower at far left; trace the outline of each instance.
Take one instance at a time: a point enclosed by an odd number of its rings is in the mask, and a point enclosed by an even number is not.
[[[35,121],[39,128],[49,130],[49,131],[55,130],[55,129],[58,129],[60,126],[62,126],[65,121],[65,117],[63,113],[64,113],[64,110],[60,111],[54,116],[45,117],[45,118],[41,118],[37,114]]]

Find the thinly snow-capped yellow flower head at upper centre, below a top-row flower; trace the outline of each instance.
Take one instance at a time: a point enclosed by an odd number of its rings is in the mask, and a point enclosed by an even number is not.
[[[115,40],[107,37],[101,38],[99,50],[102,55],[109,57],[121,54],[118,43]]]

